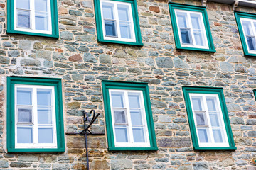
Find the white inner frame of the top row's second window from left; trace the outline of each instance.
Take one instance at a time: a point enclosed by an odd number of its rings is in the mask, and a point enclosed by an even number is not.
[[[114,21],[116,21],[116,28],[117,28],[117,38],[116,37],[110,37],[106,36],[106,29],[105,29],[105,21],[103,18],[103,9],[102,9],[102,2],[110,3],[114,5],[113,13],[114,13]],[[129,18],[131,19],[131,36],[132,38],[121,38],[120,33],[120,24],[119,24],[119,16],[117,11],[117,4],[127,5],[129,6]],[[102,18],[102,32],[103,32],[103,38],[104,40],[116,40],[116,41],[124,41],[124,42],[136,42],[135,38],[135,32],[134,32],[134,21],[133,21],[133,15],[132,15],[132,6],[130,3],[120,2],[120,1],[108,1],[108,0],[100,0],[100,13]]]

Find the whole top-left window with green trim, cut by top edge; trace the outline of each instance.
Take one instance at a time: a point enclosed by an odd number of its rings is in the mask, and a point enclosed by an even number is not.
[[[57,1],[8,1],[7,33],[58,38]]]

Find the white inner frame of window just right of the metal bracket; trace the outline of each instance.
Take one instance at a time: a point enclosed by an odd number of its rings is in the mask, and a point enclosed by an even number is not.
[[[110,108],[111,108],[111,116],[112,116],[112,128],[114,132],[114,145],[115,147],[150,147],[150,141],[149,141],[149,130],[147,127],[147,120],[146,120],[146,111],[144,107],[144,98],[142,91],[136,91],[136,90],[120,90],[120,89],[109,89],[110,92]],[[128,142],[117,142],[116,140],[116,134],[114,130],[114,108],[112,107],[112,92],[122,93],[124,94],[124,108],[127,113],[127,138]],[[142,113],[142,127],[144,128],[144,139],[145,142],[134,142],[133,139],[133,133],[132,133],[132,119],[130,115],[130,108],[129,108],[129,98],[128,93],[134,93],[139,94],[139,103],[140,103],[140,110]]]

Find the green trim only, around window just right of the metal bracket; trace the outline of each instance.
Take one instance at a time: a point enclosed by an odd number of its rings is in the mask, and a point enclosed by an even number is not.
[[[146,122],[149,131],[150,147],[115,147],[114,146],[114,131],[112,128],[112,117],[110,108],[109,89],[122,90],[139,90],[142,91],[144,97],[144,106],[146,112]],[[123,81],[102,81],[102,94],[105,108],[107,142],[109,150],[158,150],[156,144],[156,134],[154,132],[154,121],[151,111],[151,103],[149,96],[149,87],[146,83],[139,82],[123,82]]]

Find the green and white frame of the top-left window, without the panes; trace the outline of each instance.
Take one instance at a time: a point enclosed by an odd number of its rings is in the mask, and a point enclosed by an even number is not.
[[[47,3],[50,4],[47,6],[48,15],[50,13],[50,16],[48,16],[48,31],[46,30],[36,30],[33,26],[36,22],[36,17],[33,17],[35,15],[35,7],[32,5],[35,1],[33,0],[33,3],[31,2],[29,10],[27,9],[16,9],[15,4],[18,0],[8,0],[7,1],[7,33],[15,33],[15,34],[25,34],[25,35],[36,35],[36,36],[43,36],[43,37],[50,37],[50,38],[59,38],[59,30],[58,30],[58,6],[56,0],[48,0]],[[31,8],[32,7],[32,8]],[[19,11],[23,11],[23,16],[28,15],[27,17],[30,17],[29,24],[30,28],[20,28],[16,27],[16,24],[18,24],[18,18],[16,18],[16,13]],[[24,14],[24,12],[26,14]],[[42,16],[43,12],[38,12],[39,16]],[[40,14],[39,14],[40,13]],[[17,14],[18,15],[18,14]],[[22,15],[21,15],[22,16]],[[47,16],[46,16],[47,17]],[[43,18],[43,17],[42,17]],[[17,23],[16,23],[17,22]]]

